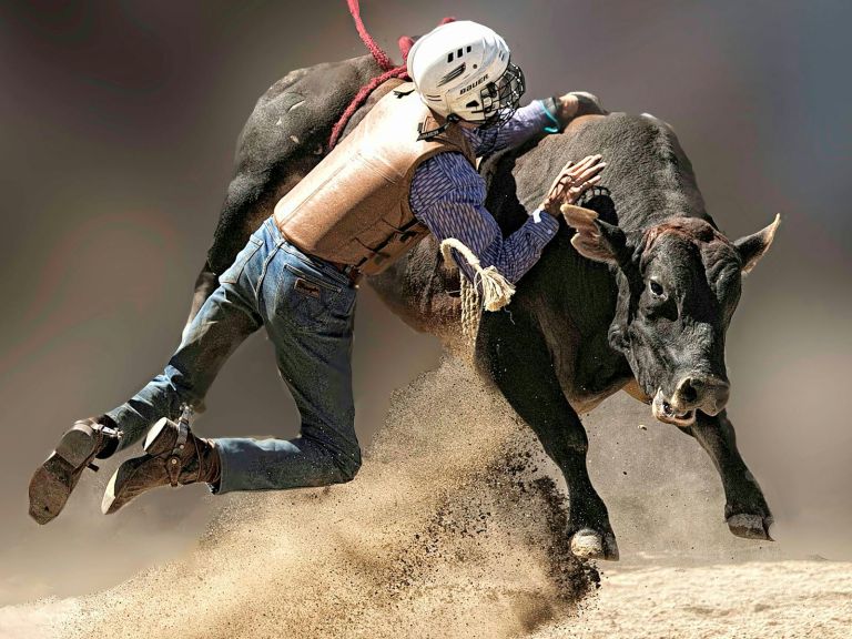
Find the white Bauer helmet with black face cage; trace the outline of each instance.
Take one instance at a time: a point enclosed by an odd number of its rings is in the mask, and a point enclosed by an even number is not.
[[[506,41],[488,27],[448,22],[414,43],[408,75],[436,113],[493,126],[511,118],[524,94],[524,73],[510,54]]]

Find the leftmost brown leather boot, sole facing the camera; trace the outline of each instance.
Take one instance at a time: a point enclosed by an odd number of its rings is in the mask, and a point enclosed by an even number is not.
[[[75,422],[30,479],[30,517],[42,525],[52,521],[62,511],[83,470],[98,470],[92,460],[112,455],[120,437],[115,423],[105,415]]]

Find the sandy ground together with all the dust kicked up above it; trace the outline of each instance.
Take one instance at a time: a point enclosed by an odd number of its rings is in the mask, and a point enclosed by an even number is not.
[[[356,481],[220,498],[185,558],[1,608],[0,638],[852,636],[852,565],[732,538],[693,443],[626,427],[645,416],[631,410],[587,419],[623,558],[598,567],[600,588],[565,552],[558,486],[529,433],[445,361],[394,396]],[[640,452],[663,444],[666,463],[649,465]]]

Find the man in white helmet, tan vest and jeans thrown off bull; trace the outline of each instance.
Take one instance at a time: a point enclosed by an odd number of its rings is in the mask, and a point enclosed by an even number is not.
[[[429,232],[459,240],[483,267],[494,265],[513,283],[538,260],[558,230],[559,205],[598,182],[600,156],[566,165],[541,206],[505,240],[483,205],[476,158],[600,113],[597,100],[569,93],[517,109],[524,75],[506,42],[475,22],[450,22],[420,38],[408,72],[414,85],[379,100],[277,203],[221,275],[164,372],[122,406],[65,432],[30,483],[37,521],[59,515],[94,458],[149,428],[145,454],[110,479],[104,513],[158,486],[205,481],[223,494],[351,480],[361,466],[351,378],[358,278]],[[474,281],[464,261],[462,270]],[[300,437],[196,437],[182,412],[202,403],[229,355],[261,326],[298,407]]]

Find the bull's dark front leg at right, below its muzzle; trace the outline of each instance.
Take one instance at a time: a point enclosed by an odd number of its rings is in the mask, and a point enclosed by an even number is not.
[[[772,540],[772,513],[737,449],[737,436],[727,413],[710,417],[699,412],[696,423],[686,430],[698,439],[719,470],[724,487],[724,518],[731,532],[748,539]]]

